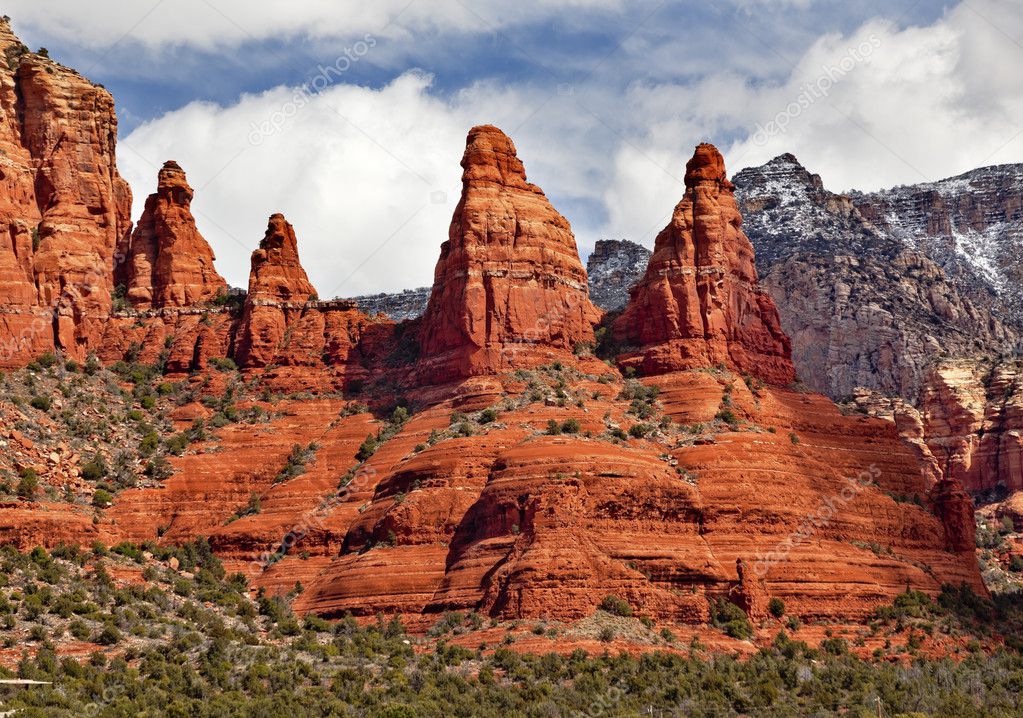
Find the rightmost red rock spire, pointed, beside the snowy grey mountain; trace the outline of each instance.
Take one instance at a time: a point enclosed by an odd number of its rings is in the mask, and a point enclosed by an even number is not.
[[[614,323],[618,341],[635,348],[620,363],[647,374],[725,364],[772,384],[791,383],[789,339],[757,283],[735,188],[713,145],[697,147],[685,166],[685,188]]]

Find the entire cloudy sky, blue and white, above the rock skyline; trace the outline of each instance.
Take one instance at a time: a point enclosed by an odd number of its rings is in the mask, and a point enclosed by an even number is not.
[[[598,238],[652,245],[685,161],[835,190],[1023,162],[1020,0],[8,0],[115,95],[135,216],[165,160],[232,284],[283,212],[320,296],[429,284],[470,127]]]

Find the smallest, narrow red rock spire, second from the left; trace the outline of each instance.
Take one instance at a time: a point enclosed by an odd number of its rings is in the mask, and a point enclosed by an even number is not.
[[[239,366],[266,366],[280,349],[287,326],[316,298],[299,262],[295,228],[277,214],[253,252],[249,296],[235,345]]]

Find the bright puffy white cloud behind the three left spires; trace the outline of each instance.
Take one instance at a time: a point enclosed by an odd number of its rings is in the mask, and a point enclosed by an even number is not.
[[[379,90],[337,85],[300,95],[301,107],[296,91],[281,87],[228,107],[191,103],[146,123],[119,145],[119,165],[136,194],[134,216],[161,164],[176,160],[195,188],[196,222],[228,281],[248,283],[249,255],[269,215],[282,212],[326,298],[432,281],[473,125],[494,123],[511,133],[541,186],[560,184],[567,199],[591,190],[585,158],[590,166],[599,158],[587,153],[585,128],[572,115],[552,111],[523,126],[536,107],[553,110],[564,98],[481,84],[443,100],[430,94],[431,82],[409,72]],[[271,121],[279,131],[257,132]],[[580,141],[561,141],[565,136]],[[574,154],[580,161],[570,164]]]

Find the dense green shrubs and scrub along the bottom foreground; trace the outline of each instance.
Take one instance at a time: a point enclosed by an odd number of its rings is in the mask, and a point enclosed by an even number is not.
[[[173,559],[173,560],[172,560]],[[171,568],[177,565],[177,569]],[[134,567],[144,583],[112,576]],[[608,608],[628,613],[609,597]],[[993,604],[964,591],[907,592],[878,622],[963,616]],[[738,621],[718,607],[724,625]],[[203,541],[181,548],[122,544],[91,551],[0,550],[0,623],[16,671],[52,681],[4,688],[21,716],[972,716],[1023,715],[1023,658],[971,650],[962,662],[857,659],[840,638],[813,648],[784,632],[747,660],[682,654],[520,655],[417,638],[379,618],[299,620],[288,596],[248,597]],[[476,626],[483,624],[479,617]],[[460,621],[458,622],[460,625]],[[72,640],[96,645],[60,657]]]

